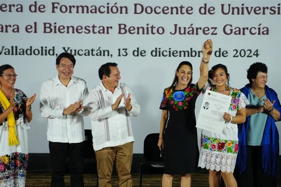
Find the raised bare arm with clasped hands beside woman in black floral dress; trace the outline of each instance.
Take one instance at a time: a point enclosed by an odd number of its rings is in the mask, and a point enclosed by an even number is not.
[[[204,42],[202,46],[203,57],[201,59],[201,64],[200,64],[200,78],[198,80],[199,89],[203,88],[205,83],[208,81],[209,61],[212,51],[213,51],[213,42],[211,39],[208,39],[207,41]]]

